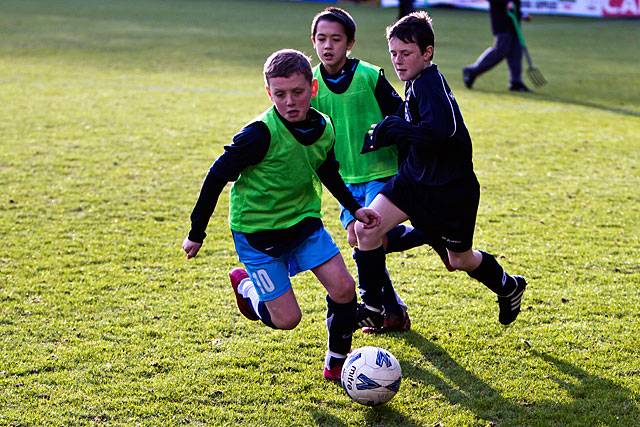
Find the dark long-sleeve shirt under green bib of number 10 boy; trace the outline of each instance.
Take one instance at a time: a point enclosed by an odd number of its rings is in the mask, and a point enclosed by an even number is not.
[[[309,110],[307,119],[302,122],[291,123],[284,119],[276,110],[276,114],[296,138],[303,145],[311,145],[323,134],[327,125],[324,118],[315,110]],[[242,128],[234,137],[230,145],[224,147],[224,153],[215,160],[209,168],[200,190],[200,195],[191,213],[191,230],[189,240],[202,242],[206,237],[205,230],[218,202],[218,197],[224,186],[235,181],[240,173],[248,166],[255,165],[266,156],[271,143],[271,134],[267,125],[256,121]],[[360,209],[360,205],[347,189],[338,172],[338,162],[335,159],[333,149],[327,159],[316,170],[316,174],[331,194],[345,206],[352,214]],[[308,218],[299,224],[285,230],[265,230],[252,234],[250,241],[269,241],[272,244],[265,246],[278,246],[279,243],[292,240],[301,241],[311,232],[321,226],[321,221],[316,218]],[[260,245],[262,246],[262,245]]]

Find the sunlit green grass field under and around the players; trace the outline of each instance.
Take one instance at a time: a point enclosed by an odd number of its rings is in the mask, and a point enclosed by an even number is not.
[[[354,55],[387,69],[395,9],[343,3]],[[435,254],[389,257],[411,332],[401,390],[366,408],[321,379],[324,292],[294,279],[303,320],[244,319],[220,199],[200,255],[180,249],[223,144],[265,109],[273,50],[313,53],[324,5],[277,1],[0,3],[0,425],[640,425],[640,22],[534,17],[549,84],[466,90],[486,14],[435,9],[436,62],[474,141],[476,246],[525,274],[524,310]],[[327,196],[325,222],[355,267]]]

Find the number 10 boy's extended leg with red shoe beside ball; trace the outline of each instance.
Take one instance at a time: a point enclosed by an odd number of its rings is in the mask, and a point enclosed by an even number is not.
[[[311,271],[327,290],[329,348],[324,376],[329,380],[339,380],[342,365],[351,350],[356,317],[355,281],[340,254]]]

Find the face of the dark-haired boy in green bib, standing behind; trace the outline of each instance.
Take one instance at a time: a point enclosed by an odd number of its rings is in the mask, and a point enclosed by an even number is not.
[[[330,74],[336,74],[347,62],[347,52],[355,41],[348,42],[344,27],[338,22],[321,20],[316,26],[316,34],[311,43],[318,59]]]

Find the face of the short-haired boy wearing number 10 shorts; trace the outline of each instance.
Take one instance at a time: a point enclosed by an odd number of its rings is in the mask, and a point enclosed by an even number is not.
[[[300,122],[307,118],[311,98],[318,93],[318,81],[309,81],[301,73],[289,77],[272,77],[267,86],[269,99],[278,113],[290,122]]]

